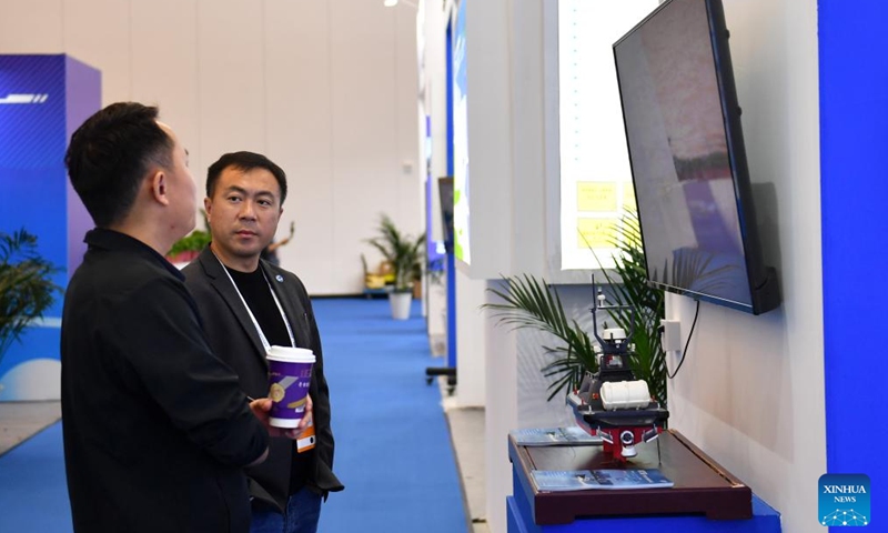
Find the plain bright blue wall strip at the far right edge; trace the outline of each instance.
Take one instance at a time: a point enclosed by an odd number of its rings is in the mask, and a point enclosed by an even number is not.
[[[855,507],[881,529],[888,467],[868,450],[879,449],[888,436],[872,416],[888,372],[879,340],[888,314],[888,254],[881,245],[888,231],[882,214],[888,74],[881,31],[888,6],[820,0],[818,16],[826,473],[866,476],[872,491],[857,495]],[[826,479],[818,484],[823,520],[844,506],[825,494]],[[864,502],[871,515],[862,512]]]

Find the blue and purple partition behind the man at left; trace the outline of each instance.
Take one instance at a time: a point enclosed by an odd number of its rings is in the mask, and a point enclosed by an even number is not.
[[[69,56],[0,56],[0,232],[26,230],[64,289],[92,221],[68,181],[71,133],[101,107],[101,74]],[[59,398],[62,293],[0,353],[0,400]]]

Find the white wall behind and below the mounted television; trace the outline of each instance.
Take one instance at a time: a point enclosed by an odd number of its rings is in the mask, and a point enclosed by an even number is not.
[[[784,532],[803,533],[819,527],[815,487],[826,472],[817,2],[724,3],[761,239],[784,303],[761,316],[700,305],[669,390],[670,425],[783,513]],[[667,314],[686,335],[694,304],[672,298]]]

